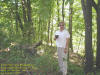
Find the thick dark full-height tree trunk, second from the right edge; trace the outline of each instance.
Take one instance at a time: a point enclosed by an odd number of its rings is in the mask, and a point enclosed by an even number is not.
[[[81,0],[85,20],[85,74],[93,71],[92,0]]]

